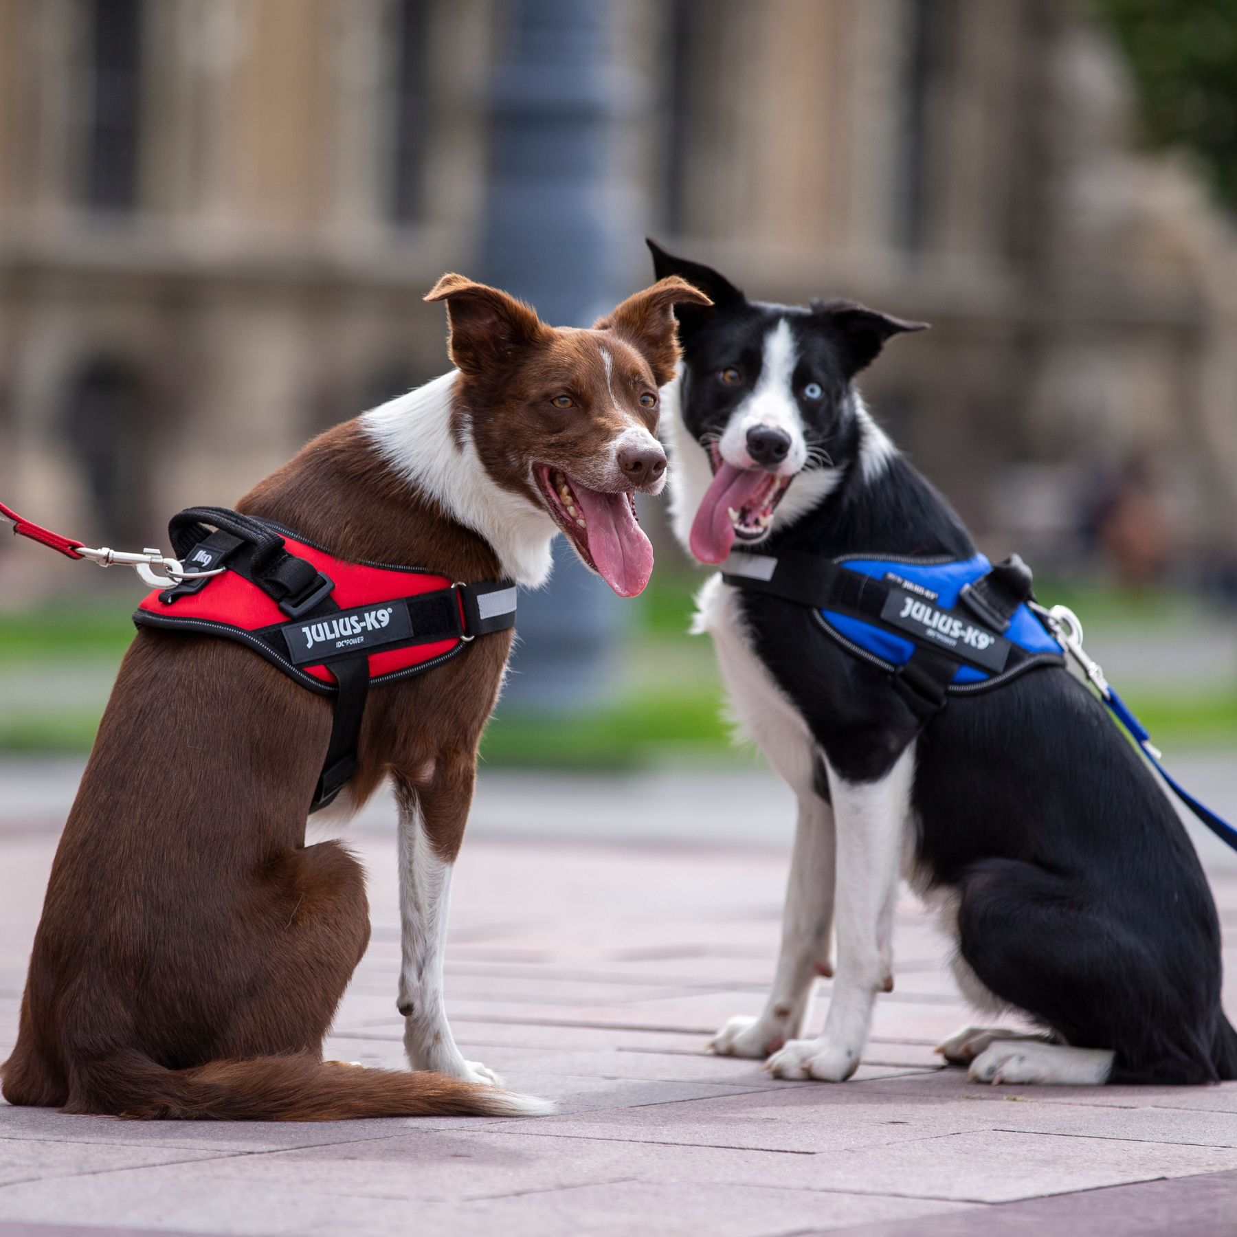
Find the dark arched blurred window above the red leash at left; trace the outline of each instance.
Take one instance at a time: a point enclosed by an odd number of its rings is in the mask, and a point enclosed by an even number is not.
[[[147,418],[137,374],[121,361],[87,364],[69,387],[64,432],[106,544],[140,549],[147,527]]]

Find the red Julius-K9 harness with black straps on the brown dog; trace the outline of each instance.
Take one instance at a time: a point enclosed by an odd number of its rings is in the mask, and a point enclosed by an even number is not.
[[[202,574],[151,593],[135,623],[235,640],[303,688],[335,698],[310,811],[356,772],[370,684],[433,669],[476,636],[516,623],[510,580],[459,584],[419,567],[349,563],[226,507],[182,511],[168,533],[186,569]]]

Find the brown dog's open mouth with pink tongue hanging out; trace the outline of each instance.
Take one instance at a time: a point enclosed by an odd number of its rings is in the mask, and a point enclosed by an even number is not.
[[[636,522],[633,494],[590,490],[550,464],[533,468],[546,506],[576,553],[621,597],[642,593],[653,547]]]

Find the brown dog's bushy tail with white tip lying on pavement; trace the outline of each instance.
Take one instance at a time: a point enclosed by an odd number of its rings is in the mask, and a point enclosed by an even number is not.
[[[96,1061],[67,1112],[202,1121],[351,1117],[539,1117],[553,1105],[443,1074],[323,1064],[306,1055],[209,1061],[168,1070],[140,1053]]]

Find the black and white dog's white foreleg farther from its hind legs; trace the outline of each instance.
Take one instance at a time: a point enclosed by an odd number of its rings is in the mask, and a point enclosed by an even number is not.
[[[830,974],[833,915],[834,814],[815,794],[800,793],[773,988],[758,1018],[731,1018],[714,1035],[709,1047],[715,1053],[768,1056],[803,1034],[816,976]]]

